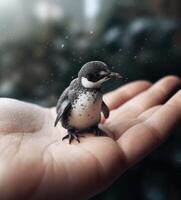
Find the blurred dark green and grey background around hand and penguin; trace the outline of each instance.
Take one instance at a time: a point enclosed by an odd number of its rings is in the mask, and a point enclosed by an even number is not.
[[[180,76],[181,1],[0,1],[1,97],[54,106],[90,60],[124,76],[105,92],[137,79]],[[179,132],[92,200],[180,200]]]

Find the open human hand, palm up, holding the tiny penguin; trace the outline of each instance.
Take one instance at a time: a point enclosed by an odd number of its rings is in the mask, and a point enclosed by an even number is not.
[[[0,199],[86,199],[157,148],[181,123],[181,80],[127,84],[104,97],[111,137],[61,141],[55,108],[0,99]],[[173,95],[173,96],[172,96]]]

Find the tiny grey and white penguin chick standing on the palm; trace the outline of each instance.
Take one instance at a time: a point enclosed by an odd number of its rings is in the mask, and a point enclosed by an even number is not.
[[[101,111],[105,118],[109,117],[109,108],[102,100],[101,85],[111,78],[122,78],[120,74],[111,72],[101,61],[91,61],[83,65],[78,78],[72,80],[57,102],[57,118],[55,126],[60,121],[68,134],[62,140],[69,138],[80,142],[82,132],[95,131],[102,135],[98,128]]]

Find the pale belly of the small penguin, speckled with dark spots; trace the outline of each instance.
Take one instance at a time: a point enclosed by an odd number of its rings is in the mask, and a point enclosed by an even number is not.
[[[72,105],[69,125],[77,129],[86,129],[99,123],[101,119],[102,98],[95,101],[94,93],[83,93]]]

